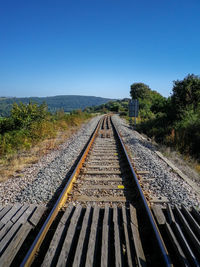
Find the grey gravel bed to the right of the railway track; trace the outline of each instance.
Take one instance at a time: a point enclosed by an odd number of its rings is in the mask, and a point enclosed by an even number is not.
[[[148,171],[144,176],[144,189],[150,197],[167,197],[172,205],[200,208],[199,196],[193,188],[180,176],[173,172],[155,153],[153,146],[147,139],[129,127],[125,120],[114,116],[113,121],[127,145],[134,165],[138,171]]]

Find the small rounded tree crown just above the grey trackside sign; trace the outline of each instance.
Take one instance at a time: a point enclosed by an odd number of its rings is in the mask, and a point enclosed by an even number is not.
[[[147,98],[151,89],[144,83],[133,83],[131,85],[130,95],[132,99]]]

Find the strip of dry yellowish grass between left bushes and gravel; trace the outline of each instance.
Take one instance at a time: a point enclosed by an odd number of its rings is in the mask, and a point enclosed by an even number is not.
[[[28,151],[20,151],[19,153],[7,156],[0,160],[0,182],[6,181],[8,178],[22,176],[22,170],[31,164],[38,162],[38,160],[50,153],[52,150],[58,148],[60,144],[65,142],[73,133],[80,129],[81,124],[68,128],[65,131],[57,133],[55,138],[46,139],[33,146]]]

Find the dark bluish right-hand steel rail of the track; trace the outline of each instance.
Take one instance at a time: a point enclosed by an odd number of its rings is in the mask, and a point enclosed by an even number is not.
[[[111,122],[112,122],[113,128],[114,128],[114,130],[115,130],[115,132],[116,132],[116,134],[117,134],[117,136],[118,136],[118,138],[119,138],[119,140],[120,140],[120,143],[121,143],[121,146],[122,146],[122,148],[123,148],[123,151],[124,151],[124,153],[125,153],[125,155],[126,155],[126,158],[127,158],[128,164],[129,164],[129,166],[130,166],[130,169],[131,169],[133,178],[134,178],[135,183],[136,183],[136,185],[137,185],[137,188],[138,188],[138,190],[139,190],[140,197],[141,197],[141,199],[142,199],[142,201],[143,201],[145,210],[146,210],[146,212],[147,212],[147,215],[148,215],[148,218],[149,218],[149,220],[150,220],[151,226],[152,226],[152,228],[153,228],[153,231],[154,231],[154,234],[155,234],[157,243],[158,243],[158,245],[159,245],[160,252],[161,252],[163,261],[164,261],[164,263],[165,263],[165,266],[173,266],[173,265],[172,265],[172,262],[171,262],[171,259],[170,259],[169,255],[168,255],[168,251],[167,251],[167,249],[166,249],[166,247],[165,247],[165,245],[164,245],[164,242],[163,242],[163,239],[162,239],[162,237],[161,237],[161,234],[160,234],[160,232],[159,232],[159,230],[158,230],[158,227],[156,226],[156,223],[155,223],[155,220],[154,220],[154,218],[153,218],[152,212],[151,212],[151,210],[150,210],[150,208],[149,208],[149,206],[148,206],[147,200],[146,200],[146,198],[145,198],[145,196],[144,196],[144,194],[143,194],[143,192],[142,192],[142,188],[141,188],[141,186],[140,186],[140,184],[139,184],[139,182],[138,182],[137,175],[136,175],[136,173],[135,173],[135,171],[134,171],[134,169],[133,169],[133,166],[132,166],[132,164],[131,164],[130,157],[129,157],[128,153],[127,153],[127,148],[126,148],[126,146],[125,146],[125,144],[124,144],[124,141],[123,141],[123,139],[122,139],[122,137],[121,137],[121,134],[118,132],[118,130],[117,130],[117,128],[116,128],[116,126],[115,126],[115,124],[114,124],[112,118],[111,118]]]

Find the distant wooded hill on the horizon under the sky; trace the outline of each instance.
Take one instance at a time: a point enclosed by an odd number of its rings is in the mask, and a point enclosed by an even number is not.
[[[42,104],[45,102],[48,105],[49,111],[63,109],[65,112],[70,112],[75,109],[84,109],[86,107],[98,106],[105,104],[113,99],[96,97],[96,96],[79,96],[79,95],[58,95],[49,97],[0,97],[0,116],[9,116],[13,103],[33,103]]]

